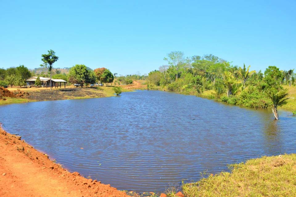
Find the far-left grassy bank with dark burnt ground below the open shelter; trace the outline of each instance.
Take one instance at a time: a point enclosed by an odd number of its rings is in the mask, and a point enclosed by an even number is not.
[[[67,88],[22,88],[21,91],[28,92],[29,95],[23,98],[3,97],[0,99],[0,105],[12,103],[27,103],[35,101],[51,101],[51,100],[65,100],[65,99],[85,99],[85,98],[101,98],[116,96],[111,86],[102,87],[67,87]],[[9,88],[13,91],[15,88]],[[123,92],[132,90],[123,89]]]

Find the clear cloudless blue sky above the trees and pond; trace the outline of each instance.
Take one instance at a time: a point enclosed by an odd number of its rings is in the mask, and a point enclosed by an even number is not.
[[[214,54],[233,65],[296,68],[296,1],[4,1],[0,68],[85,64],[148,74],[167,53]]]

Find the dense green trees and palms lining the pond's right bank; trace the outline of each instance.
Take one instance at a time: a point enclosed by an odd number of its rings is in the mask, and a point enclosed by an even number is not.
[[[250,66],[233,66],[212,54],[185,57],[181,51],[172,51],[164,58],[167,65],[148,74],[150,89],[165,89],[183,94],[202,94],[225,103],[254,108],[272,107],[278,119],[277,107],[288,98],[283,85],[295,85],[292,70],[269,66],[264,73],[250,70]]]

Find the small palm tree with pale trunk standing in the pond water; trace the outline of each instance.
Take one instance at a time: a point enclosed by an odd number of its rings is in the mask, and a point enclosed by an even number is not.
[[[287,99],[288,91],[285,90],[276,90],[275,88],[269,91],[269,98],[271,99],[273,105],[271,107],[274,119],[278,120],[278,106],[281,106]]]

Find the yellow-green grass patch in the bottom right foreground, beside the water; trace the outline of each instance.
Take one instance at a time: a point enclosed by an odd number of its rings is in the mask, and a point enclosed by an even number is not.
[[[186,197],[296,196],[296,154],[250,159],[230,165],[232,171],[186,183]]]

